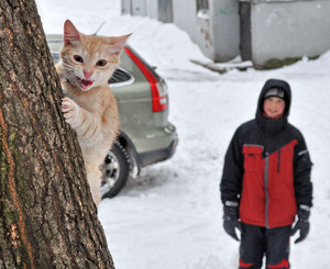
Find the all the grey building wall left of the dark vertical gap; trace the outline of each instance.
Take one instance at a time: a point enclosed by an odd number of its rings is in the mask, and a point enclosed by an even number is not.
[[[122,0],[122,13],[173,21],[187,32],[201,52],[215,61],[226,61],[240,54],[239,0],[208,0],[209,10],[197,10],[197,0]],[[164,5],[172,13],[163,14]],[[163,13],[162,13],[163,12]],[[168,19],[169,18],[169,19]]]

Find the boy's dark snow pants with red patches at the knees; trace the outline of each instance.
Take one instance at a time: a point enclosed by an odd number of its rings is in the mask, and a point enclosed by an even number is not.
[[[240,268],[260,269],[266,257],[266,269],[288,269],[292,226],[265,228],[242,223]]]

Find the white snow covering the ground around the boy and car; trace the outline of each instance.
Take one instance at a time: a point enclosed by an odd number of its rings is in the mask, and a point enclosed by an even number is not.
[[[315,164],[311,231],[305,242],[292,244],[292,268],[329,268],[330,52],[276,70],[219,75],[190,63],[207,59],[185,32],[146,18],[120,16],[120,0],[36,2],[46,33],[62,33],[65,19],[87,34],[102,22],[102,35],[132,32],[130,44],[168,83],[169,120],[179,134],[175,156],[143,169],[117,198],[100,204],[118,269],[238,267],[239,244],[222,229],[219,181],[229,141],[254,116],[268,78],[290,83],[289,121],[305,135]]]

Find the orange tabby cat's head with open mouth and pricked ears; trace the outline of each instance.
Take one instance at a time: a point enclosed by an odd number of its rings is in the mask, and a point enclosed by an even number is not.
[[[82,91],[107,83],[120,63],[120,53],[129,36],[84,35],[66,21],[61,58],[69,83]]]

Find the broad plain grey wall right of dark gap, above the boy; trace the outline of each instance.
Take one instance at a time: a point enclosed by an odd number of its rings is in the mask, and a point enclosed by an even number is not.
[[[330,48],[330,1],[255,1],[251,5],[252,60],[317,56]]]

